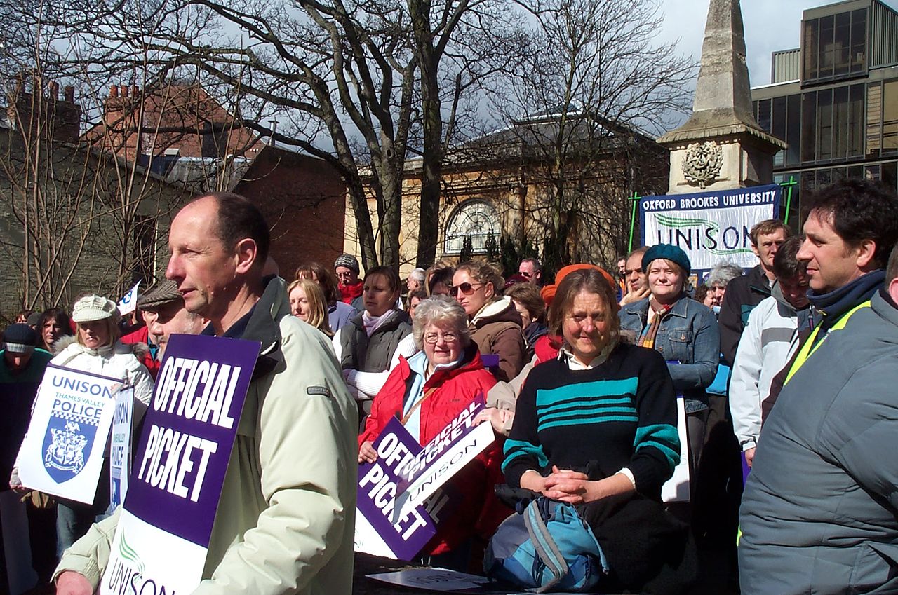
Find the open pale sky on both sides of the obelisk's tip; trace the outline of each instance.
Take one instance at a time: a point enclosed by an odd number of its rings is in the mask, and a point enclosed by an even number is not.
[[[743,0],[745,49],[752,86],[770,83],[770,52],[798,47],[801,13],[835,0]],[[661,0],[665,26],[660,39],[674,42],[683,54],[698,59],[709,0]],[[885,0],[898,7],[898,0]]]

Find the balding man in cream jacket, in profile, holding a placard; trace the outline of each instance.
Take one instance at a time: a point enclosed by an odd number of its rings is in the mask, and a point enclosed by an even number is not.
[[[178,285],[187,310],[210,320],[203,332],[262,345],[204,581],[193,593],[348,594],[356,407],[327,337],[290,315],[283,279],[262,276],[268,243],[259,210],[233,195],[197,198],[181,209],[169,234],[165,275]],[[117,520],[118,513],[94,525],[66,552],[57,568],[58,592],[96,590]]]

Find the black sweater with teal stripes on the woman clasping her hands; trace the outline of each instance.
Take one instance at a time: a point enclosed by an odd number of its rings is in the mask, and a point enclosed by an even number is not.
[[[602,479],[626,467],[640,493],[659,499],[680,460],[676,416],[674,383],[654,349],[617,346],[592,370],[541,363],[517,400],[502,470],[517,487],[527,469]]]

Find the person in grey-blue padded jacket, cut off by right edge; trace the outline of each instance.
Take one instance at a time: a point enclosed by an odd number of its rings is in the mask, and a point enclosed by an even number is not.
[[[833,330],[764,424],[742,504],[744,595],[898,592],[898,250],[885,287]]]

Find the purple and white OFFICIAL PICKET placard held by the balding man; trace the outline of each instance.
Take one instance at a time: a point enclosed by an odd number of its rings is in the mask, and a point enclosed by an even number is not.
[[[172,335],[146,412],[101,593],[193,591],[202,578],[260,344]],[[149,587],[146,587],[149,589]]]

